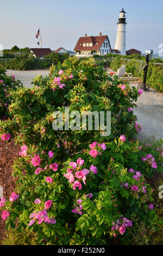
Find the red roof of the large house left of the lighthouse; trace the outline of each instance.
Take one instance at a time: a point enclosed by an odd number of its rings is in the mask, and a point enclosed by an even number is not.
[[[77,45],[74,48],[74,51],[86,51],[86,50],[99,50],[105,41],[105,39],[108,38],[107,35],[102,35],[102,36],[82,36],[79,38],[77,41]],[[109,39],[108,39],[109,41]],[[93,46],[83,46],[84,43],[93,43]],[[97,44],[98,43],[98,44]],[[110,44],[110,42],[109,42]]]

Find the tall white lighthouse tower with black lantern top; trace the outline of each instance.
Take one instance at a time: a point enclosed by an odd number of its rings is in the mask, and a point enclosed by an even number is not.
[[[126,11],[120,11],[120,17],[118,19],[118,29],[115,49],[121,52],[121,55],[126,55]]]

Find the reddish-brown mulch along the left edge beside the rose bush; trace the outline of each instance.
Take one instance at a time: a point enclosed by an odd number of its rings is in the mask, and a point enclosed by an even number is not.
[[[15,157],[20,156],[20,145],[15,145],[14,141],[7,143],[0,140],[0,185],[3,187],[3,197],[9,199],[14,191],[16,178],[11,176],[12,166]],[[0,209],[0,216],[2,210]],[[0,245],[5,237],[5,222],[0,217]]]

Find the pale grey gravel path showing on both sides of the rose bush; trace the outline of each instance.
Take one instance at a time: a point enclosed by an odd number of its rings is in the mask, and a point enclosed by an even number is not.
[[[109,69],[111,71],[111,69]],[[25,87],[32,87],[31,82],[38,75],[46,76],[49,70],[7,70],[7,75],[14,75]],[[137,88],[137,82],[131,82],[130,86]],[[155,136],[157,139],[163,139],[163,93],[157,93],[151,89],[150,92],[143,92],[136,102],[137,108],[134,113],[137,116],[137,123],[141,124],[143,129],[137,138]]]

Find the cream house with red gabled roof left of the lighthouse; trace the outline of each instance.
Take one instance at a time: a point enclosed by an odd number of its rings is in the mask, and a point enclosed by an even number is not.
[[[110,53],[110,41],[108,35],[98,36],[85,36],[80,37],[76,47],[74,48],[75,56],[77,57],[90,57],[94,54],[104,55]]]

